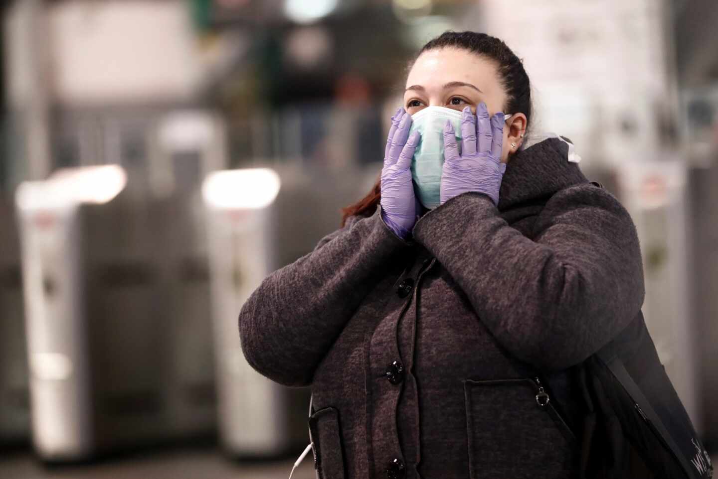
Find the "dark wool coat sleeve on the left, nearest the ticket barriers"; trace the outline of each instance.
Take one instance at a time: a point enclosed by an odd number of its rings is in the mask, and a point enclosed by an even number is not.
[[[311,384],[314,370],[397,250],[381,217],[350,217],[314,251],[272,272],[239,313],[241,347],[259,373],[287,386]]]

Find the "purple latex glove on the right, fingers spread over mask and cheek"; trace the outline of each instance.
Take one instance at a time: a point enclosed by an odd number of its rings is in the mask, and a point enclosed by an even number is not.
[[[490,196],[498,205],[501,179],[506,163],[501,163],[503,113],[489,118],[485,103],[479,103],[476,117],[469,107],[461,119],[462,150],[459,154],[454,127],[444,126],[444,166],[442,167],[441,203],[466,191]]]

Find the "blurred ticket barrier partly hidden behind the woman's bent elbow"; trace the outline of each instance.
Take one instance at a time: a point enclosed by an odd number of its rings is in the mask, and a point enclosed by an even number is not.
[[[267,275],[339,227],[340,207],[363,197],[376,174],[286,166],[205,179],[220,440],[230,455],[276,457],[307,445],[309,388],[282,386],[249,366],[238,313]]]

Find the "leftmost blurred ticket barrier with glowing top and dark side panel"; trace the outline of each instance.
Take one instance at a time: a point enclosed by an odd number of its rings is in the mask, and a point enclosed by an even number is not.
[[[119,166],[19,186],[32,439],[43,460],[213,435],[208,283],[178,199]],[[196,228],[195,228],[196,229]]]

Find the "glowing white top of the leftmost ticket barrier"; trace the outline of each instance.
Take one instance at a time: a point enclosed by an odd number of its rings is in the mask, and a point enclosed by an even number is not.
[[[18,186],[20,209],[54,209],[79,203],[111,201],[127,184],[127,174],[118,165],[62,169],[45,181],[26,181]]]

